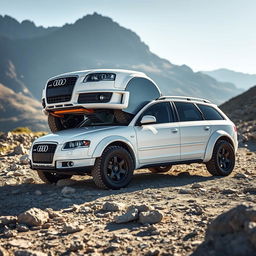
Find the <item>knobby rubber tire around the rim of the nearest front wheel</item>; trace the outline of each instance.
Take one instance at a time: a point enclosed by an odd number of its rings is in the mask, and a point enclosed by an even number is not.
[[[127,172],[125,174],[124,180],[120,183],[111,181],[111,178],[108,176],[108,166],[112,158],[118,157],[125,161]],[[113,164],[112,164],[113,165]],[[92,169],[92,177],[94,183],[103,189],[120,189],[127,186],[134,172],[134,162],[130,153],[121,146],[109,146],[107,147],[102,156],[97,158]]]

